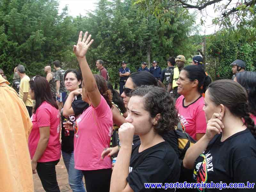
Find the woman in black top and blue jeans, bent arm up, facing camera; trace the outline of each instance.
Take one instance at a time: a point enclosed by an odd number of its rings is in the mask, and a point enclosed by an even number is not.
[[[74,160],[74,130],[65,130],[63,122],[72,120],[74,122],[89,104],[82,100],[81,84],[82,74],[76,69],[68,69],[64,74],[64,84],[69,94],[63,100],[61,110],[61,154],[65,167],[68,171],[68,183],[73,192],[85,192],[81,170],[75,169]]]

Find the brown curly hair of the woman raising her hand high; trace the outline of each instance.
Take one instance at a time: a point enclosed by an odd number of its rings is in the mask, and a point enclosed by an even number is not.
[[[105,79],[101,75],[93,75],[97,84],[97,87],[100,91],[100,94],[104,97],[107,101],[108,106],[112,108],[112,95],[111,92],[108,90],[107,83]]]

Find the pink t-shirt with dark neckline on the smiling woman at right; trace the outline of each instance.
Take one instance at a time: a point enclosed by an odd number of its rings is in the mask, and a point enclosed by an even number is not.
[[[196,140],[196,133],[206,132],[206,119],[203,111],[204,97],[198,98],[188,106],[184,106],[184,96],[181,95],[177,100],[175,107],[178,110],[181,122],[192,138]]]

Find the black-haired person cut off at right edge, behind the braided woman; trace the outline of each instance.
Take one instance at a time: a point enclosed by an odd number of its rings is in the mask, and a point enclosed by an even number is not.
[[[256,72],[244,71],[236,74],[234,81],[241,84],[248,94],[250,117],[256,124]]]

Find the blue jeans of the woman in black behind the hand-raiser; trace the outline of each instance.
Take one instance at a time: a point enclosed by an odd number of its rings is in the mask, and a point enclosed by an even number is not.
[[[81,170],[75,169],[74,151],[66,153],[61,151],[64,164],[68,171],[68,182],[73,192],[86,192],[83,183],[84,174]]]

